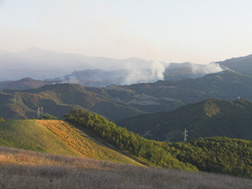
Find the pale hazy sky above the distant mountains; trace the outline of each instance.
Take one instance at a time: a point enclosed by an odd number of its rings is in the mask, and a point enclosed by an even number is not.
[[[252,54],[251,0],[0,0],[0,49],[205,64]]]

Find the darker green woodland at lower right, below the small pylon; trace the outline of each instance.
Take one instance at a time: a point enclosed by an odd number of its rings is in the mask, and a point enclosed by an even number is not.
[[[180,161],[189,162],[201,171],[252,178],[251,141],[212,137],[160,145]]]

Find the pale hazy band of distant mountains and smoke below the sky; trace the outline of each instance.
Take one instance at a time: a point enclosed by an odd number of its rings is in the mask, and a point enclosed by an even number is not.
[[[97,87],[197,78],[223,70],[215,63],[178,64],[134,57],[120,60],[58,53],[38,48],[17,53],[1,51],[0,63],[0,81],[14,81],[26,77],[37,80],[57,78],[61,82]]]

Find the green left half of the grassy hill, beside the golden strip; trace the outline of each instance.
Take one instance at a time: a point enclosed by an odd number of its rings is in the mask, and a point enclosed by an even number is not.
[[[78,155],[35,120],[1,122],[0,145],[55,154]]]

